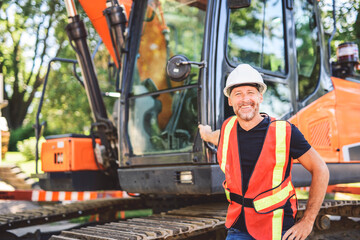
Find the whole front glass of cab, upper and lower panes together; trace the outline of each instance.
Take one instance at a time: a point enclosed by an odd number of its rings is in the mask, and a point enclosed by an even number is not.
[[[197,84],[199,69],[193,67],[185,81],[174,82],[166,76],[166,63],[176,54],[201,61],[205,7],[204,1],[148,1],[129,101],[128,135],[134,155],[192,151],[197,85],[174,88]]]

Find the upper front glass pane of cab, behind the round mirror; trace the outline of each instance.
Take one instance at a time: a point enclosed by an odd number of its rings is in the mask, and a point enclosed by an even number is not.
[[[192,6],[196,2],[148,1],[133,86],[143,85],[146,79],[153,83],[151,92],[184,85],[167,77],[166,63],[176,54],[191,61],[201,59],[206,14]],[[193,68],[191,75],[197,74],[198,69]],[[132,93],[136,94],[134,88]]]

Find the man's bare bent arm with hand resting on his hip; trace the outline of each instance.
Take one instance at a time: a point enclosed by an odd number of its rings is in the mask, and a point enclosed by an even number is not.
[[[285,233],[282,239],[303,240],[309,236],[324,200],[329,182],[329,170],[326,163],[321,159],[319,153],[314,148],[310,148],[306,153],[299,157],[298,160],[312,175],[309,199],[304,216]]]

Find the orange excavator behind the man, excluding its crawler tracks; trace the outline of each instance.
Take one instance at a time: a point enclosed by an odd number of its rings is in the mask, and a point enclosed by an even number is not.
[[[330,184],[360,182],[358,47],[341,44],[330,61],[336,28],[326,41],[318,1],[80,0],[116,65],[114,122],[84,24],[74,1],[65,3],[70,62],[82,69],[94,123],[90,136],[47,137],[43,189],[223,193],[216,149],[197,125],[218,129],[233,115],[222,89],[240,63],[268,86],[260,110],[299,127],[327,162]],[[298,187],[311,181],[297,163],[292,178]]]

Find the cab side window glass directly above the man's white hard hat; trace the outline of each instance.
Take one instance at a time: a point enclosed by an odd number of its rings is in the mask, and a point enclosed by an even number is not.
[[[231,9],[227,57],[234,65],[285,74],[283,10],[280,0],[251,1],[249,8]]]

